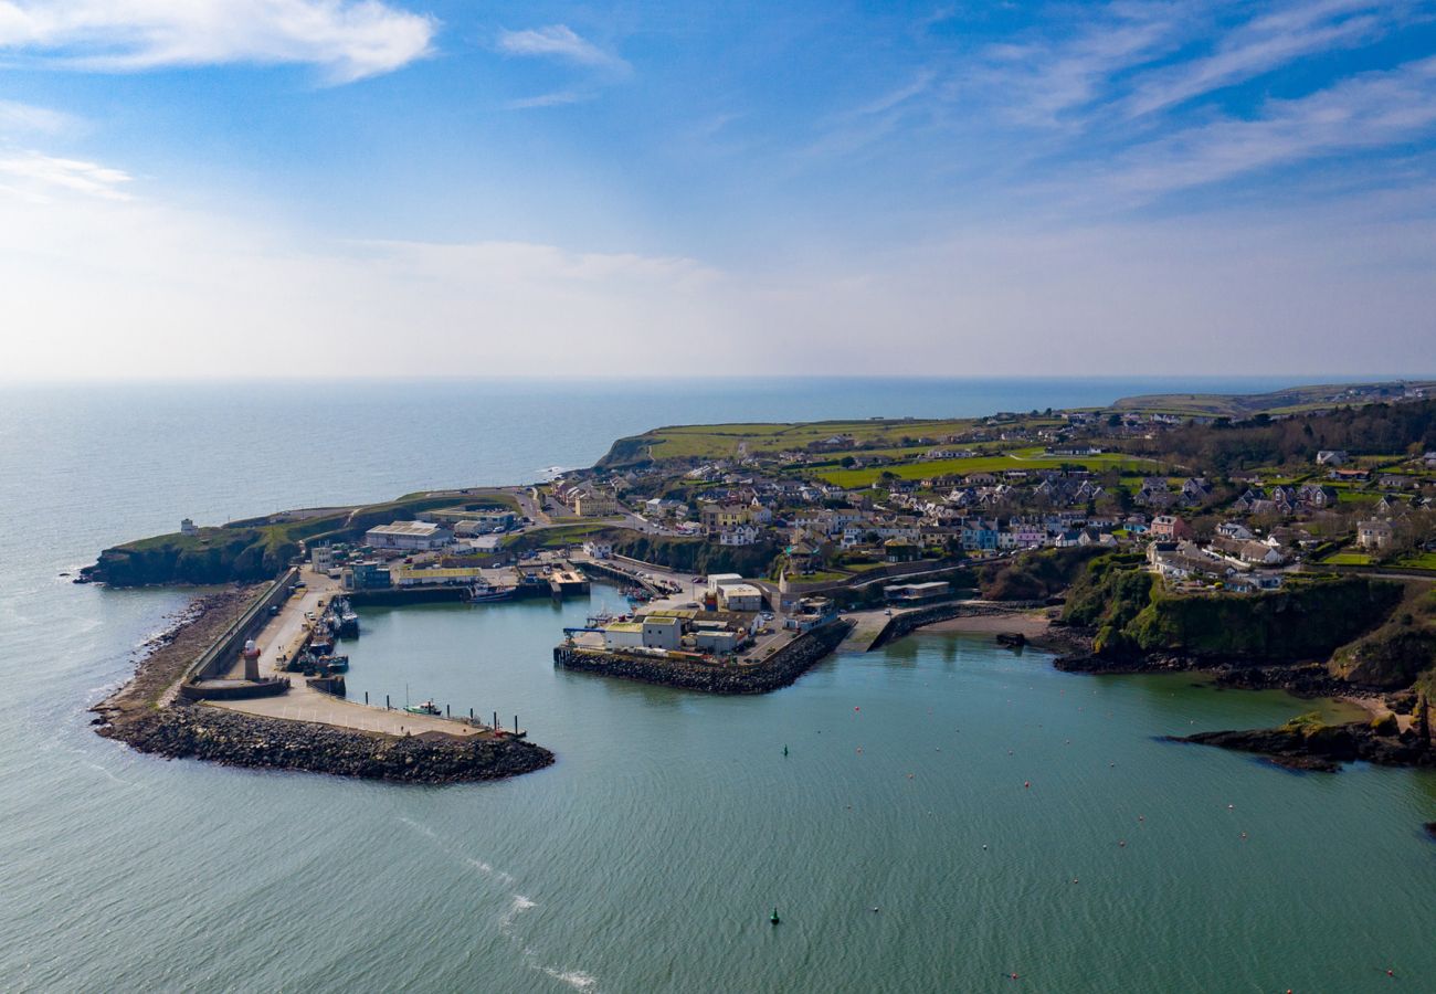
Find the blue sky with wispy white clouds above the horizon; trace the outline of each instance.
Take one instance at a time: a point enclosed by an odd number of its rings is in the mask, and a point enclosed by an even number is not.
[[[1436,373],[1436,0],[0,0],[0,378]]]

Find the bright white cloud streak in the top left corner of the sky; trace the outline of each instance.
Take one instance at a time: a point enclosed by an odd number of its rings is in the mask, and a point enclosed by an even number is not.
[[[434,19],[381,0],[0,0],[0,50],[65,66],[320,66],[333,82],[429,52]]]

